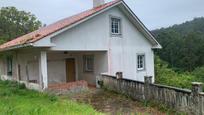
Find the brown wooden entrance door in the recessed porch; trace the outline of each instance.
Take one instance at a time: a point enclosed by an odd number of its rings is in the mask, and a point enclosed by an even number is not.
[[[76,81],[75,59],[66,59],[67,82]]]

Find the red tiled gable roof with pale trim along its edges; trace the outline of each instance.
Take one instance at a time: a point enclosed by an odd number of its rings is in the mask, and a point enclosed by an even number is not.
[[[97,13],[100,13],[100,11],[103,11],[105,9],[108,9],[110,7],[113,7],[117,4],[123,3],[123,6],[127,9],[127,11],[133,16],[136,22],[139,23],[139,27],[142,29],[142,32],[147,35],[147,39],[150,40],[155,46],[153,48],[161,48],[161,45],[156,41],[156,39],[152,36],[152,34],[149,32],[149,30],[144,26],[144,24],[139,20],[139,18],[132,12],[132,10],[128,7],[128,5],[123,0],[114,0],[112,2],[108,2],[106,4],[103,4],[101,6],[92,8],[90,10],[84,11],[82,13],[73,15],[71,17],[62,19],[58,22],[55,22],[51,25],[48,25],[46,27],[42,27],[39,30],[33,31],[31,33],[28,33],[26,35],[20,36],[16,39],[13,39],[9,42],[6,42],[2,45],[0,45],[0,51],[9,50],[13,48],[18,47],[24,47],[24,46],[30,46],[32,43],[43,39],[53,33],[56,33],[58,31],[61,31],[67,27],[70,27],[82,20],[85,20],[86,18],[89,18]]]

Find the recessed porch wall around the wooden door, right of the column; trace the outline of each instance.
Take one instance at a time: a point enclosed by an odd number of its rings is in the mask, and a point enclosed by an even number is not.
[[[94,55],[94,72],[87,73],[83,71],[83,56]],[[107,71],[106,52],[50,52],[48,53],[48,80],[49,83],[66,82],[66,59],[74,58],[76,63],[76,79],[86,80],[89,84],[96,83],[96,76],[101,72]]]

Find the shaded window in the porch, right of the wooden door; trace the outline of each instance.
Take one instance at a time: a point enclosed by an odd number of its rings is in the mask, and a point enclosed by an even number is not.
[[[85,55],[83,60],[84,72],[93,72],[94,71],[94,56]]]

